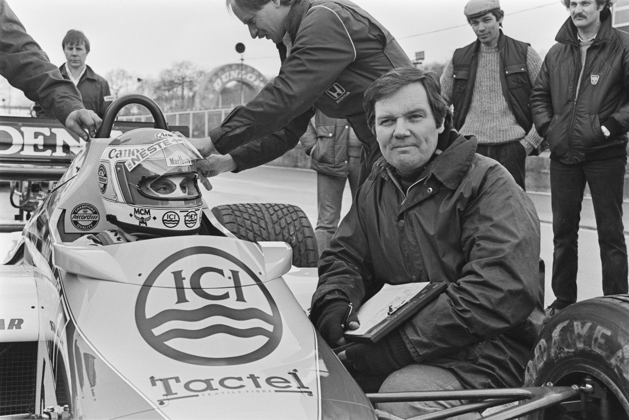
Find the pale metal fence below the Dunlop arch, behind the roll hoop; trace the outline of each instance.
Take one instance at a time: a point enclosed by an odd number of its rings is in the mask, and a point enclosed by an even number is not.
[[[233,108],[203,109],[200,111],[177,111],[174,113],[164,113],[166,122],[169,125],[187,125],[190,128],[191,137],[206,137],[209,130],[218,127],[221,121],[231,112]],[[143,121],[151,122],[151,114],[146,115],[124,115],[118,116],[123,121]]]

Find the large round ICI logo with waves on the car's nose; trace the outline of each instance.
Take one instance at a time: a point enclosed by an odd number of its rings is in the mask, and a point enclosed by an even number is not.
[[[255,362],[282,338],[277,304],[257,274],[209,246],[177,251],[153,269],[135,323],[154,350],[193,365]]]

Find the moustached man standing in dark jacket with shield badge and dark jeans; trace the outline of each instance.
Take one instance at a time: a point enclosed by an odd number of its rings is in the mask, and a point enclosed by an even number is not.
[[[627,293],[623,234],[629,35],[611,27],[610,0],[563,0],[560,28],[537,79],[531,106],[550,146],[553,243],[547,317],[577,301],[577,238],[586,182],[603,263],[603,294]]]

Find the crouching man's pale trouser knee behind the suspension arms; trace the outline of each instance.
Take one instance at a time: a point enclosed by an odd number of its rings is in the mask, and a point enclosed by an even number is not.
[[[430,365],[407,365],[391,373],[380,387],[380,392],[440,391],[466,389],[459,379],[442,367]],[[418,401],[378,403],[377,408],[394,416],[408,419],[450,407],[466,404],[467,401]],[[451,420],[473,420],[481,418],[478,412],[449,417]]]

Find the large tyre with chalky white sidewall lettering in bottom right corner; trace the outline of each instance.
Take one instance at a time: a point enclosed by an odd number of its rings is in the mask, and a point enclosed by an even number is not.
[[[582,386],[586,378],[597,393],[586,396],[586,418],[604,418],[608,406],[608,419],[629,419],[629,295],[572,304],[538,336],[525,386]],[[581,404],[572,406],[574,411],[568,405],[550,407],[529,419],[581,419]]]

